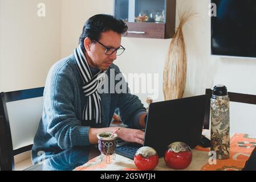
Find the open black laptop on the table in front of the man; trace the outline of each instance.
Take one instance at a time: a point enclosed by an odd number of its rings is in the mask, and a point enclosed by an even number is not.
[[[150,104],[143,146],[153,147],[160,157],[173,142],[196,147],[201,140],[206,100],[207,96],[201,95]],[[140,147],[138,143],[119,141],[116,154],[133,159]]]

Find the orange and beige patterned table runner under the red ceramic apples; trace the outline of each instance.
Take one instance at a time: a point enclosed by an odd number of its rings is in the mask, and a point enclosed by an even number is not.
[[[226,160],[213,160],[210,157],[210,149],[197,146],[193,151],[193,159],[190,166],[184,170],[190,171],[216,171],[216,170],[241,170],[246,161],[249,159],[251,153],[256,147],[256,137],[247,134],[234,134],[230,138],[230,159]],[[79,166],[74,169],[75,171],[87,171],[87,170],[124,170],[132,171],[137,170],[133,160],[125,158],[121,155],[116,155],[110,159],[110,163],[107,164],[105,160],[101,161],[100,157],[90,160],[83,166]],[[166,166],[164,158],[159,159],[159,165],[155,170],[174,170]]]

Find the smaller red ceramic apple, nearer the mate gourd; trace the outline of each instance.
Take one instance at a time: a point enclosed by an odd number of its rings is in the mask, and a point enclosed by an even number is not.
[[[143,171],[149,171],[156,168],[159,163],[159,156],[152,147],[141,147],[134,156],[135,166]]]

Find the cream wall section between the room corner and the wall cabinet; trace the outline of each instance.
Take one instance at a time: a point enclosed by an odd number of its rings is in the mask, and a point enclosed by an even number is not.
[[[113,0],[62,0],[62,57],[78,46],[86,20],[95,14],[112,14]]]

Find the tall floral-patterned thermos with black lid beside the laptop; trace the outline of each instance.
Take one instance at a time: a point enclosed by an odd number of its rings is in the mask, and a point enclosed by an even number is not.
[[[213,88],[211,98],[211,146],[216,152],[217,159],[229,159],[229,96],[224,85]]]

